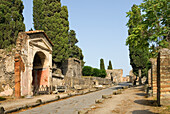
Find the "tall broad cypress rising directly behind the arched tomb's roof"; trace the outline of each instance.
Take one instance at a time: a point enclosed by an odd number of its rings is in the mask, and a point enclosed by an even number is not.
[[[54,44],[53,61],[62,62],[68,59],[67,7],[61,7],[60,0],[34,0],[33,3],[34,27],[36,30],[44,30],[52,40]]]

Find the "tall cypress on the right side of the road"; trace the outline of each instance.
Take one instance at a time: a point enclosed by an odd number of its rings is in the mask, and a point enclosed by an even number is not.
[[[139,69],[148,68],[149,64],[149,43],[144,35],[144,26],[142,25],[142,15],[140,8],[133,5],[131,11],[127,12],[129,21],[129,36],[126,40],[126,45],[129,45],[130,64],[135,75],[138,75]],[[146,71],[146,70],[144,70]],[[144,73],[146,75],[147,72]]]

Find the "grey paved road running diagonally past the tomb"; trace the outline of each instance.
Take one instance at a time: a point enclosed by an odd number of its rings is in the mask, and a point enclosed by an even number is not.
[[[41,107],[19,112],[18,114],[77,114],[79,110],[90,108],[91,105],[95,104],[96,99],[102,98],[102,95],[112,94],[116,87],[122,85],[127,84],[124,83],[86,95],[75,96],[65,100],[56,101]]]

